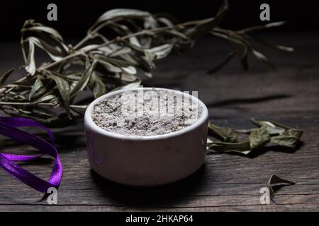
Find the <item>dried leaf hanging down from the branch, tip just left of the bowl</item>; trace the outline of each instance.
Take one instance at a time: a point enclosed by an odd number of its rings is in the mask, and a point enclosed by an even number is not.
[[[59,90],[60,96],[63,100],[63,104],[65,105],[65,111],[69,115],[69,84],[67,81],[61,76],[57,75],[54,71],[48,71],[47,76],[52,78],[53,81],[57,84],[57,89]],[[69,116],[71,119],[71,117]]]

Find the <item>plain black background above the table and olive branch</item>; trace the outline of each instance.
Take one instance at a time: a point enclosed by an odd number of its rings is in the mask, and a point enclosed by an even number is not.
[[[40,23],[50,25],[59,30],[66,38],[82,37],[86,29],[94,23],[103,12],[112,8],[138,8],[151,13],[171,13],[180,21],[208,18],[214,16],[222,3],[218,1],[203,0],[149,0],[149,1],[1,1],[0,40],[19,39],[19,30],[23,21],[34,18]],[[57,21],[47,20],[47,4],[57,4]],[[308,31],[319,29],[319,4],[318,1],[235,1],[230,0],[230,10],[221,24],[223,28],[240,29],[250,25],[263,24],[259,20],[259,6],[262,3],[270,5],[271,21],[288,20],[289,23],[276,30],[283,31]]]

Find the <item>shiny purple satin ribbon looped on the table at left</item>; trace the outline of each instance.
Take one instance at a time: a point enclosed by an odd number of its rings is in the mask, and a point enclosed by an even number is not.
[[[43,140],[39,136],[16,129],[16,127],[38,127],[44,129],[50,136],[50,143]],[[31,145],[42,152],[39,155],[13,155],[0,153],[0,166],[3,167],[6,172],[9,172],[9,174],[16,179],[40,192],[47,192],[47,189],[50,187],[58,188],[60,186],[62,179],[62,164],[57,153],[57,149],[54,146],[55,137],[49,129],[32,119],[21,117],[0,117],[0,133],[4,136],[12,138],[13,140]],[[35,160],[36,158],[39,158],[45,154],[56,159],[47,182],[14,163]]]

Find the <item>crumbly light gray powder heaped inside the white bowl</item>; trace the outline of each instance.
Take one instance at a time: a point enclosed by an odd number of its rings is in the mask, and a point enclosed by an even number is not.
[[[198,102],[186,95],[150,90],[124,92],[94,105],[92,119],[106,131],[128,136],[171,133],[201,117]]]

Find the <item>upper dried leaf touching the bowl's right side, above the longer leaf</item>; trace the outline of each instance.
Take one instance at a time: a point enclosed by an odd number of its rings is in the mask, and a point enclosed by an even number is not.
[[[237,134],[230,127],[220,127],[216,126],[208,121],[208,133],[211,133],[212,136],[220,139],[223,142],[227,143],[237,143],[239,141]]]

